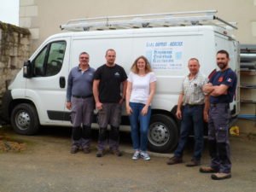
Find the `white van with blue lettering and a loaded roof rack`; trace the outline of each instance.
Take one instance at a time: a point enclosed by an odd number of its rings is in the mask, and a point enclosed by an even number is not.
[[[16,132],[25,135],[35,134],[39,125],[70,126],[69,110],[65,108],[69,71],[79,64],[81,52],[88,52],[90,67],[97,68],[104,64],[106,50],[112,48],[117,53],[116,63],[124,67],[126,73],[130,72],[137,56],[145,55],[150,61],[157,76],[157,89],[152,103],[148,148],[157,152],[172,150],[179,133],[175,117],[177,98],[183,77],[189,73],[189,58],[198,58],[201,73],[208,76],[217,68],[217,51],[226,49],[230,53],[230,67],[239,73],[238,43],[230,33],[230,28],[236,26],[224,20],[220,21],[229,28],[208,25],[206,21],[213,23],[218,19],[214,16],[216,12],[212,11],[212,15],[208,11],[195,13],[68,22],[62,28],[84,31],[55,34],[32,54],[3,98],[5,119]],[[239,91],[230,108],[233,116],[239,113]],[[129,125],[125,110],[122,125]]]

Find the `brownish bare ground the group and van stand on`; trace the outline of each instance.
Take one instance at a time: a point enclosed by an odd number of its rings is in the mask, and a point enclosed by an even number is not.
[[[184,164],[167,166],[172,154],[151,154],[150,161],[131,160],[131,139],[121,135],[124,156],[106,154],[96,158],[96,131],[90,154],[70,154],[70,129],[44,128],[37,136],[16,135],[0,129],[4,145],[23,143],[20,152],[0,152],[0,192],[252,192],[256,189],[255,137],[230,137],[232,178],[214,181],[199,167]],[[183,160],[188,162],[193,151],[190,142]],[[206,149],[202,164],[209,157]]]

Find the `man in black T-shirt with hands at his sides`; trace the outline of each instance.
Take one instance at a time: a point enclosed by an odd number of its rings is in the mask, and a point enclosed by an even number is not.
[[[99,140],[97,157],[102,157],[107,145],[107,128],[111,125],[109,133],[109,148],[113,154],[121,156],[119,151],[119,124],[122,112],[122,103],[125,101],[127,75],[123,67],[114,63],[116,53],[108,49],[105,55],[106,64],[97,68],[94,82],[93,95],[96,101],[99,123]],[[123,85],[120,95],[120,85]]]

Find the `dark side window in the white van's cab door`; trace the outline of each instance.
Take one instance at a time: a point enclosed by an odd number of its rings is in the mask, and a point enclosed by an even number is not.
[[[61,71],[66,42],[53,42],[44,47],[33,61],[35,77],[49,77]]]

